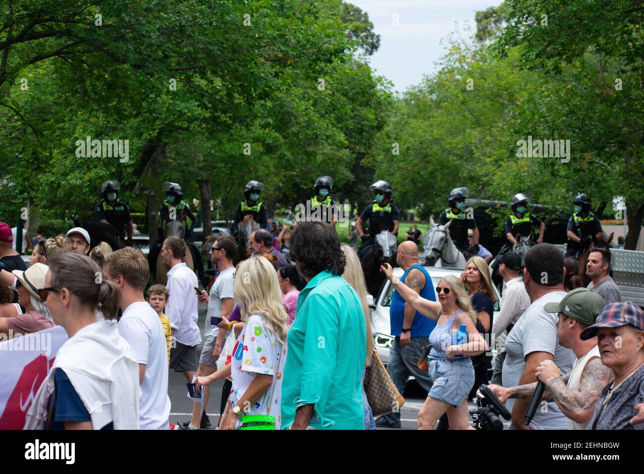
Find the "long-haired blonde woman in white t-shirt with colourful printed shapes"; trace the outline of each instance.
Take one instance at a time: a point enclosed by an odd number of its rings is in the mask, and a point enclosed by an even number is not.
[[[231,364],[212,375],[197,377],[195,383],[199,387],[232,376],[224,430],[240,428],[242,415],[275,417],[275,429],[279,430],[281,373],[289,328],[277,273],[267,259],[254,255],[240,262],[234,280],[235,302],[245,325],[232,350]]]

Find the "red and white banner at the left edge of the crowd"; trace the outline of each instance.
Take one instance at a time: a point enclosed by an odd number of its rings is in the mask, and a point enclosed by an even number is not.
[[[0,342],[0,430],[22,430],[33,397],[67,341],[62,326]]]

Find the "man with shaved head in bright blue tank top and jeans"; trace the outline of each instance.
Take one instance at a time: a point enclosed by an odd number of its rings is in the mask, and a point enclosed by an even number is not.
[[[417,291],[423,298],[436,301],[431,285],[430,274],[418,264],[418,246],[413,241],[402,242],[396,252],[396,262],[404,270],[401,281]],[[392,377],[398,391],[403,394],[407,379],[413,375],[423,390],[431,388],[431,377],[428,371],[418,368],[422,357],[422,346],[427,342],[436,321],[414,311],[397,291],[393,291],[389,307],[392,324],[392,336],[395,336],[389,352],[387,371]],[[377,420],[376,426],[400,428],[400,411],[394,411]]]

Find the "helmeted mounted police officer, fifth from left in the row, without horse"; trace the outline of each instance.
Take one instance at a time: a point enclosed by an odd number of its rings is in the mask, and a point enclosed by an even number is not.
[[[392,201],[392,186],[389,183],[377,181],[369,186],[369,190],[375,193],[374,202],[366,206],[358,220],[355,221],[355,230],[357,230],[359,237],[362,239],[358,252],[373,245],[375,236],[384,230],[388,230],[393,235],[398,235],[398,227],[401,221],[400,212]],[[367,220],[369,221],[369,237],[365,239],[363,224]]]

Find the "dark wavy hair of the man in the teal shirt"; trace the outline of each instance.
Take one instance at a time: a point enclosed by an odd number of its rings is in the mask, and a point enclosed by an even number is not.
[[[303,276],[313,278],[329,270],[334,275],[345,273],[346,257],[340,237],[327,222],[301,222],[290,237],[290,258],[299,261]]]

